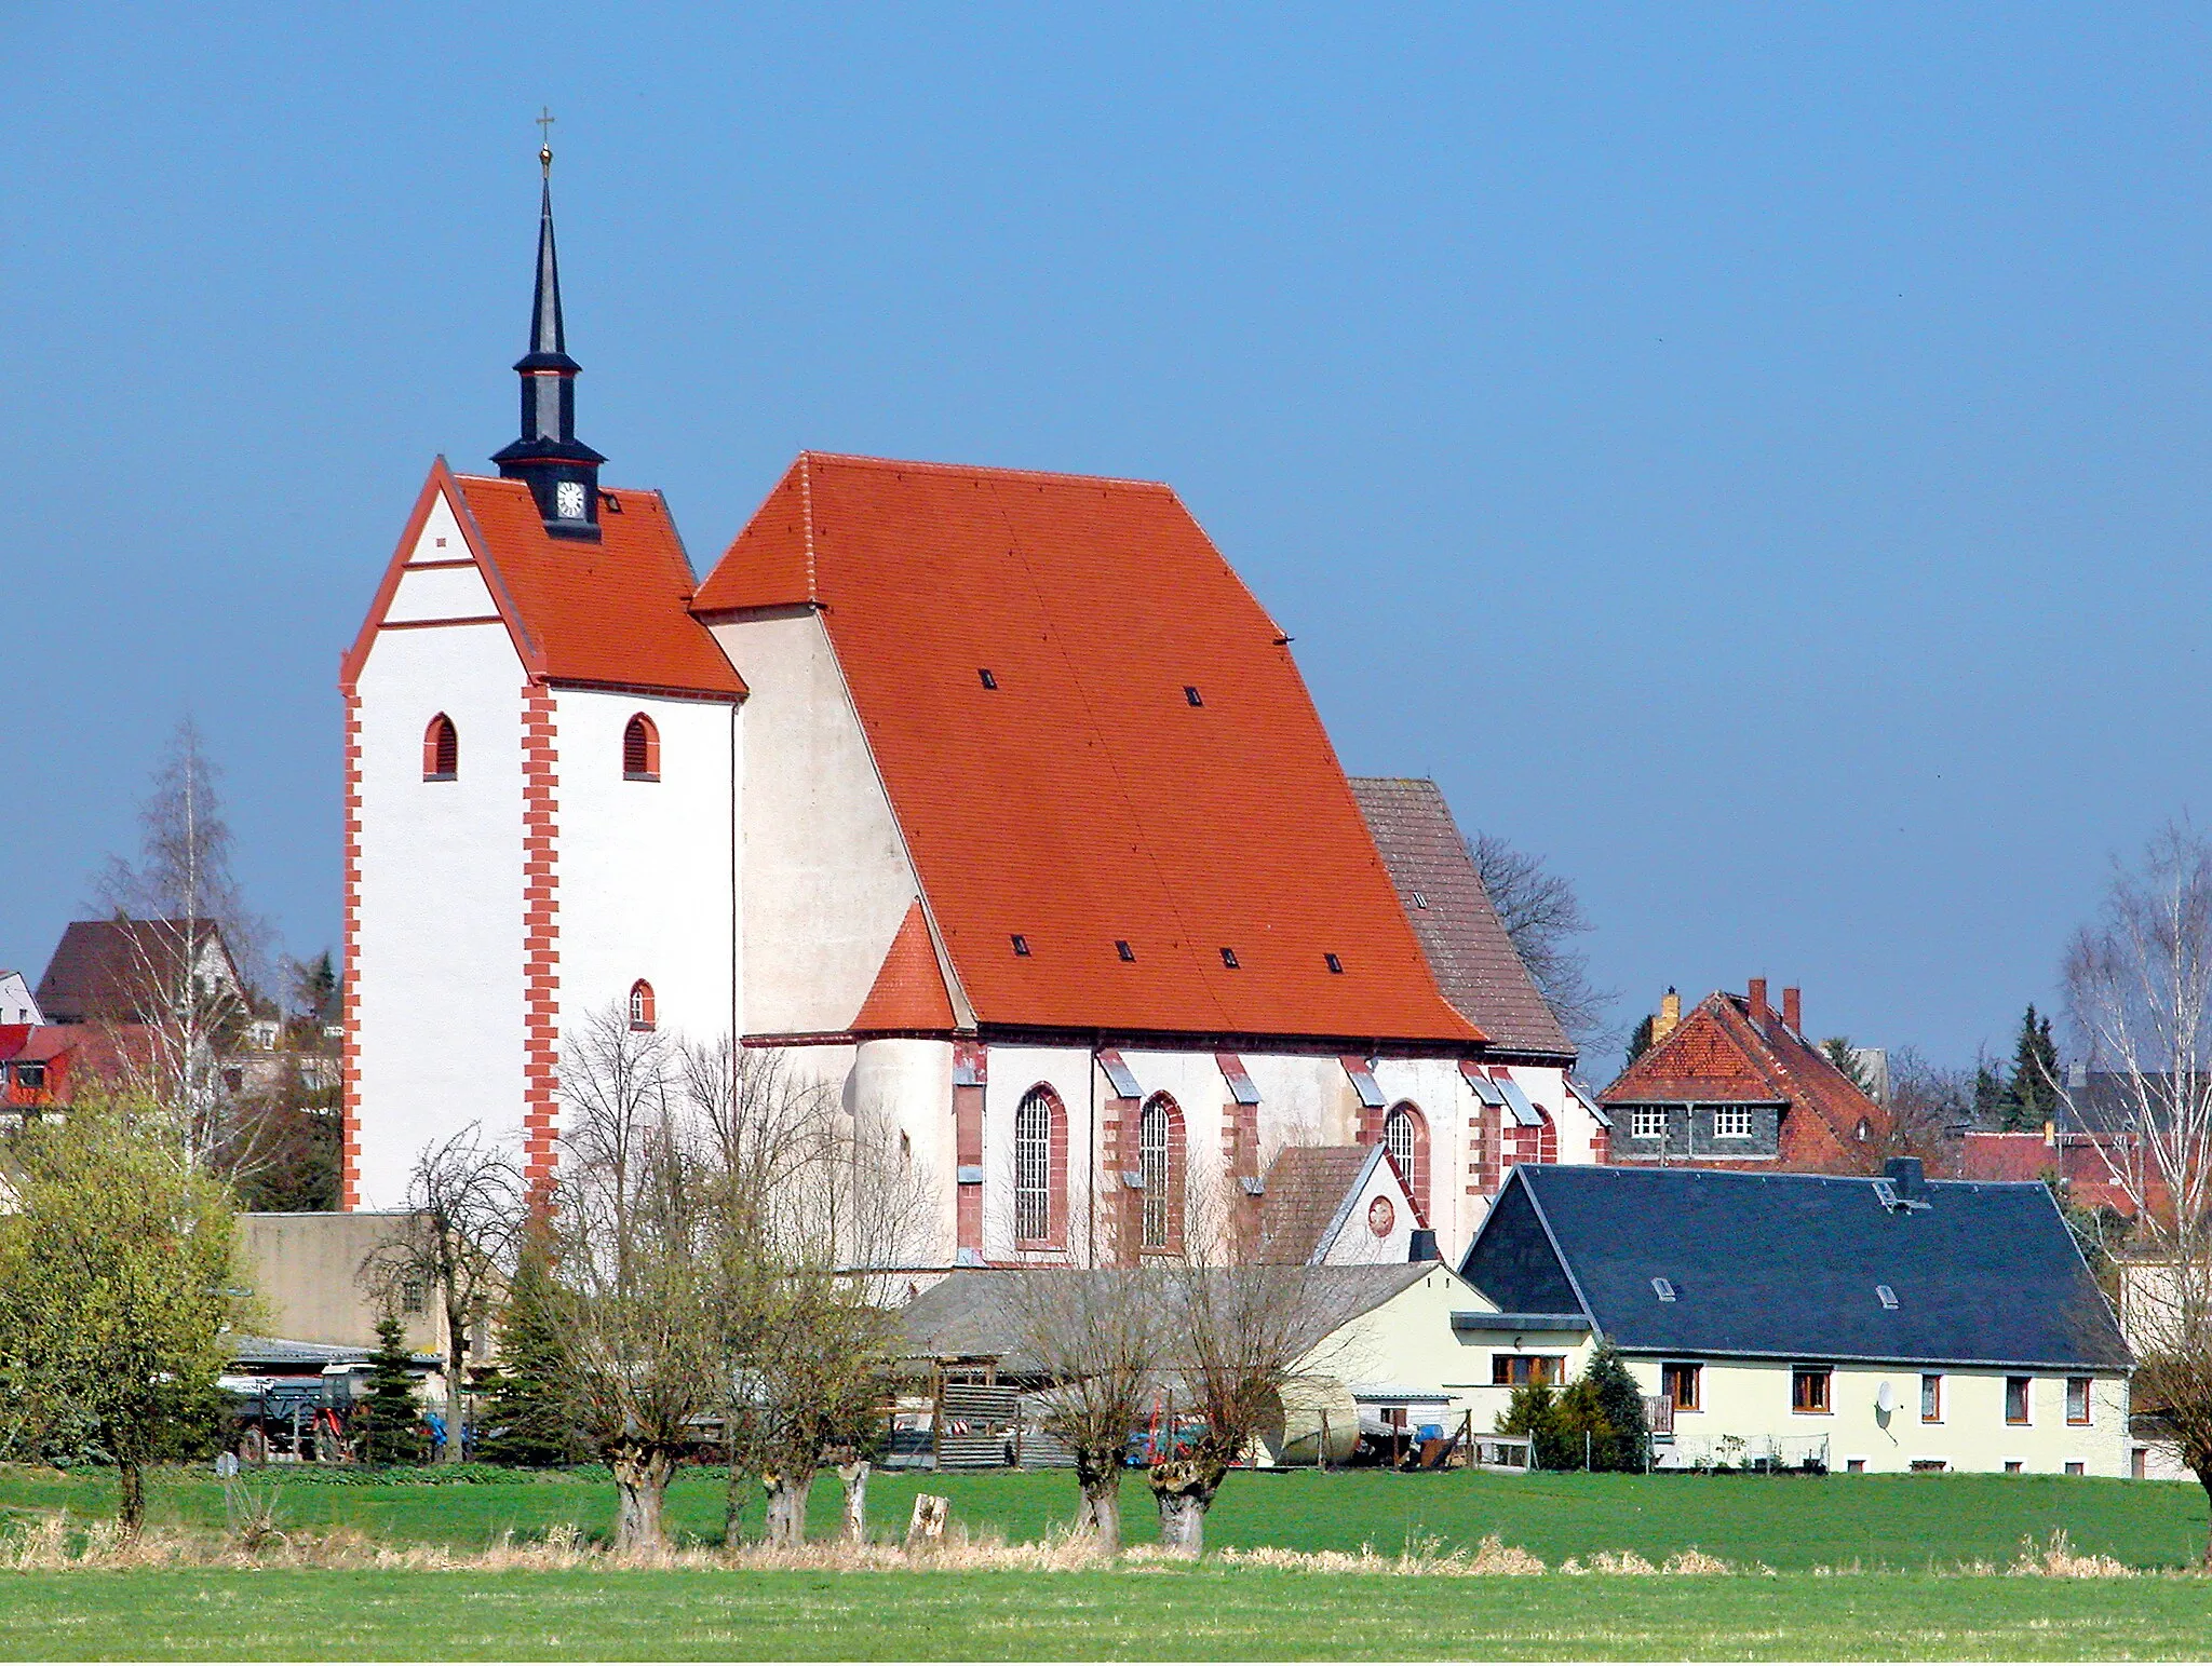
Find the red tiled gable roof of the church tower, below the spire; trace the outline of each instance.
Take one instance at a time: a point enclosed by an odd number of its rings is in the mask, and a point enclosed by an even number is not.
[[[690,615],[690,558],[657,491],[599,493],[599,542],[553,538],[522,480],[431,467],[369,619],[345,657],[352,688],[414,553],[436,496],[447,491],[531,677],[679,695],[743,697],[745,684]]]

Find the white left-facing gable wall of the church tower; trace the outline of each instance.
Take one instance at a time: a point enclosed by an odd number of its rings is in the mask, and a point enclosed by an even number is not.
[[[445,540],[440,546],[438,540]],[[431,507],[409,560],[467,553]],[[389,619],[493,613],[473,569],[409,571]],[[469,1122],[522,1128],[522,662],[498,624],[383,631],[361,670],[356,998],[361,1201],[405,1197],[416,1153]],[[460,735],[422,779],[422,730]]]

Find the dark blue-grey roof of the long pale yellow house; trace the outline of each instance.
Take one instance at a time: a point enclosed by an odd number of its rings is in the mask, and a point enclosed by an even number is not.
[[[2051,1190],[1710,1168],[1515,1168],[1460,1268],[1517,1312],[1582,1310],[1635,1354],[2119,1370]],[[1652,1279],[1670,1281],[1661,1301]],[[1876,1285],[1898,1299],[1885,1308]]]

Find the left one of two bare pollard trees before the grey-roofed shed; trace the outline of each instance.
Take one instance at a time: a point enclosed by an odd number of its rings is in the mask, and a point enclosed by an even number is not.
[[[1009,1330],[1046,1387],[1037,1425],[1075,1456],[1075,1531],[1121,1549],[1121,1467],[1161,1383],[1170,1281],[1157,1266],[1037,1268],[1013,1281]]]

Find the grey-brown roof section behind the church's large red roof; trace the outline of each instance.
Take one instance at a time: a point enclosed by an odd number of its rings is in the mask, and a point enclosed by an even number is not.
[[[1575,1044],[1506,936],[1436,781],[1356,774],[1352,796],[1444,1000],[1495,1049],[1573,1062]]]

